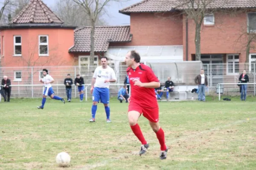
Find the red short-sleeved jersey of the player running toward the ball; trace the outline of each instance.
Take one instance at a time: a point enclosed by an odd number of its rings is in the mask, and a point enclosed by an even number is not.
[[[133,82],[133,80],[140,80],[142,83],[159,82],[153,70],[145,64],[140,64],[135,70],[128,67],[126,72],[131,85],[131,102],[136,102],[141,107],[158,107],[154,88],[134,86]]]

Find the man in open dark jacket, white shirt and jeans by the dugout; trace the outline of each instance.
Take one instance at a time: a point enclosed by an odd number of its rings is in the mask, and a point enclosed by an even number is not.
[[[205,89],[208,87],[208,79],[204,74],[204,69],[201,69],[200,75],[195,77],[195,84],[198,84],[198,100],[205,101]]]

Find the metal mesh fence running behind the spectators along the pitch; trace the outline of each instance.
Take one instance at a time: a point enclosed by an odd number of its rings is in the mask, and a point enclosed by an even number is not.
[[[194,78],[200,74],[200,69],[205,69],[205,74],[209,81],[209,94],[217,95],[218,83],[238,83],[239,75],[243,70],[247,71],[249,75],[250,83],[255,83],[255,63],[209,63],[203,64],[201,61],[183,61],[183,62],[169,62],[169,63],[156,63],[156,62],[144,62],[150,66],[154,73],[157,75],[161,83],[167,80],[167,77],[171,77],[175,86],[180,85],[195,85]],[[115,62],[110,65],[116,72],[117,81],[116,85],[111,85],[111,97],[117,95],[118,89],[121,88],[120,84],[124,83],[127,66],[124,62]],[[90,84],[95,66],[41,66],[41,67],[0,67],[0,77],[7,75],[11,79],[12,85],[12,97],[23,98],[37,98],[42,95],[41,86],[33,86],[40,84],[39,79],[42,77],[41,70],[47,68],[49,75],[54,79],[55,84],[54,91],[56,95],[65,96],[64,78],[67,74],[71,74],[71,78],[76,77],[76,74],[80,74],[84,78],[84,84]],[[59,84],[59,85],[58,85]],[[118,85],[119,84],[119,85]],[[88,90],[88,98],[91,94]],[[248,94],[255,95],[255,84],[248,85]],[[239,95],[239,86],[236,84],[225,85],[224,94],[227,95]],[[77,89],[73,87],[72,95],[74,97],[79,96]]]

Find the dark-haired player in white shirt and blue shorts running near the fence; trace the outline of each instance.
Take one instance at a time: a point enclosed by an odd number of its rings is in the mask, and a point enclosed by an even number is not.
[[[37,108],[44,109],[44,104],[46,102],[47,95],[49,95],[50,98],[55,99],[55,100],[60,100],[65,104],[64,98],[60,98],[60,97],[54,95],[54,91],[53,91],[52,85],[51,85],[51,83],[54,82],[54,79],[52,78],[52,76],[50,76],[48,74],[47,69],[43,69],[43,75],[44,75],[44,78],[41,78],[39,80],[41,83],[44,83],[44,93],[43,93],[42,105],[38,106]]]

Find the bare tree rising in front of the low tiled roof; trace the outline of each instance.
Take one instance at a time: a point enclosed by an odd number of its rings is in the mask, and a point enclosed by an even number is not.
[[[96,21],[99,20],[100,15],[105,12],[105,7],[111,1],[120,0],[73,0],[73,2],[82,7],[90,20],[90,66],[93,66],[94,61],[94,33]]]

